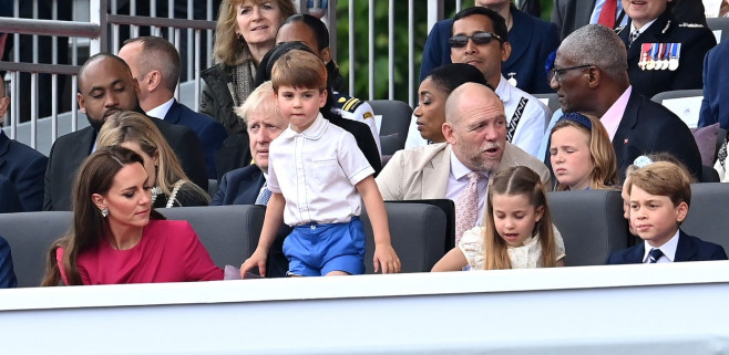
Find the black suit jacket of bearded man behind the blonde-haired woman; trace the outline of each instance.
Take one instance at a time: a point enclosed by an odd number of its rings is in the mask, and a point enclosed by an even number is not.
[[[203,189],[207,189],[205,159],[195,133],[181,125],[158,118],[150,118],[172,147],[187,177]],[[70,211],[72,189],[76,171],[91,154],[96,132],[89,126],[59,137],[51,147],[45,169],[45,194],[43,210]]]

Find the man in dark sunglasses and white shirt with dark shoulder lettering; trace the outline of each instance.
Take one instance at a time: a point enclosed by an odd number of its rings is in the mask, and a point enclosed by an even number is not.
[[[552,113],[502,74],[502,64],[512,51],[507,35],[505,20],[495,11],[481,7],[462,10],[453,18],[451,61],[478,67],[486,82],[496,87],[506,113],[506,140],[536,156]]]

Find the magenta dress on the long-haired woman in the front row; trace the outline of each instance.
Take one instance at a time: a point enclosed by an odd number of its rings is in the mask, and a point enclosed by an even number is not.
[[[61,265],[63,249],[55,252]],[[151,220],[142,240],[129,250],[116,250],[106,241],[79,254],[76,261],[83,284],[185,282],[223,280],[187,221]]]

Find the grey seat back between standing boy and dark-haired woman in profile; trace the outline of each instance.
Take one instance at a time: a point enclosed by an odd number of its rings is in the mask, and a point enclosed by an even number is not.
[[[374,115],[382,116],[380,124],[380,146],[382,155],[393,155],[404,148],[412,108],[397,100],[368,101]]]

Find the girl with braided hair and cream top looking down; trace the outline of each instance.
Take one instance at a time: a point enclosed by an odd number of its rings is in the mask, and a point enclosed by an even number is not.
[[[562,236],[552,226],[540,176],[523,166],[491,177],[485,227],[465,233],[432,271],[563,267]]]

